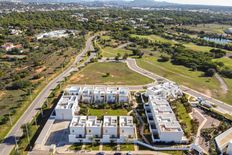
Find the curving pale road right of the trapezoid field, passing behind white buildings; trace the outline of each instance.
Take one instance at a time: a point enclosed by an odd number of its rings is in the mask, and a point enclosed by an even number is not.
[[[154,73],[152,73],[152,72],[149,72],[149,71],[147,71],[147,70],[145,70],[145,69],[140,68],[140,67],[136,64],[136,60],[135,60],[135,59],[130,59],[130,58],[128,58],[126,62],[127,62],[128,67],[129,67],[131,70],[133,70],[133,71],[135,71],[135,72],[137,72],[137,73],[139,73],[139,74],[141,74],[141,75],[144,75],[144,76],[146,76],[146,77],[149,77],[149,78],[151,78],[151,79],[153,79],[153,80],[157,80],[157,81],[169,81],[169,82],[173,82],[173,81],[170,81],[169,79],[166,79],[166,78],[161,77],[161,76],[159,76],[159,75],[157,75],[157,74],[154,74]],[[206,102],[213,103],[214,105],[217,106],[216,109],[219,110],[220,112],[228,113],[228,114],[232,115],[232,106],[230,106],[230,105],[228,105],[228,104],[226,104],[226,103],[224,103],[224,102],[222,102],[222,101],[219,101],[219,100],[217,100],[217,99],[214,99],[214,98],[212,98],[212,97],[209,97],[209,96],[207,96],[207,95],[205,95],[205,94],[203,94],[203,93],[200,93],[200,92],[198,92],[198,91],[195,91],[195,90],[193,90],[193,89],[191,89],[191,88],[188,88],[188,87],[186,87],[186,86],[180,86],[180,88],[181,88],[185,93],[187,93],[187,94],[190,94],[190,95],[192,95],[192,96],[194,96],[194,97],[201,97],[201,98],[205,99]]]

